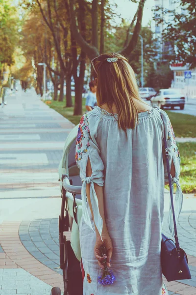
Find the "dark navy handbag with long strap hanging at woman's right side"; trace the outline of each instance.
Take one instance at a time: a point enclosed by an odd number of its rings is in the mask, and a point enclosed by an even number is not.
[[[162,118],[162,115],[161,115],[161,118]],[[168,180],[169,180],[169,186],[170,186],[170,196],[171,196],[171,202],[172,202],[175,242],[171,238],[162,234],[161,267],[162,267],[163,275],[166,277],[168,282],[171,282],[171,281],[177,281],[177,280],[191,279],[191,273],[188,266],[187,255],[185,251],[180,248],[178,236],[177,236],[175,213],[174,213],[174,207],[173,207],[173,193],[172,193],[172,181],[171,181],[170,165],[169,165],[169,152],[167,148],[165,128],[164,128],[164,148],[165,148],[165,157],[166,157],[166,164],[167,164],[167,171],[168,171]]]

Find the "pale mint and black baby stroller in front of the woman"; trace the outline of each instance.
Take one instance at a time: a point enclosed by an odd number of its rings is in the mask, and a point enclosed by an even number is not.
[[[61,188],[61,213],[59,216],[60,268],[63,271],[63,295],[82,295],[83,279],[80,268],[81,252],[78,226],[82,216],[81,179],[75,162],[75,141],[78,125],[73,128],[65,142],[63,157],[59,164]],[[77,195],[77,198],[76,198]],[[67,240],[65,232],[71,232]],[[50,295],[61,295],[61,290],[54,287]]]

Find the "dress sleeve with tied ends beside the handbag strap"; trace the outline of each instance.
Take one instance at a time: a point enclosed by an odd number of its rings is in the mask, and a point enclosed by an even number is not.
[[[179,218],[181,209],[182,209],[182,204],[183,204],[183,194],[182,190],[180,187],[180,182],[179,182],[179,176],[180,176],[180,153],[176,144],[176,139],[175,135],[173,132],[172,124],[171,121],[168,117],[168,115],[164,112],[161,111],[162,113],[162,118],[164,122],[164,129],[166,133],[166,139],[167,139],[167,147],[169,151],[169,164],[170,164],[170,169],[172,165],[172,161],[175,167],[175,176],[172,177],[172,191],[173,191],[173,184],[176,184],[176,193],[175,193],[175,201],[174,201],[174,209],[175,209],[175,218],[176,221]],[[168,182],[168,172],[167,172],[167,164],[166,164],[166,158],[165,158],[165,147],[164,147],[164,141],[163,141],[163,161],[164,161],[164,171],[165,171],[165,181]],[[169,213],[169,229],[172,235],[174,235],[174,227],[173,227],[173,216],[172,216],[172,202],[170,199],[170,213]]]

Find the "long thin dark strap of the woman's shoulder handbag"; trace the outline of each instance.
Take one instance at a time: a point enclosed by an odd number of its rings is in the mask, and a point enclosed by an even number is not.
[[[166,164],[167,164],[167,172],[168,172],[168,180],[169,180],[169,186],[170,186],[170,197],[171,197],[171,203],[172,203],[172,214],[173,214],[173,225],[174,225],[174,233],[175,233],[175,246],[176,250],[180,251],[180,244],[178,240],[178,235],[177,235],[177,227],[176,227],[176,221],[175,221],[175,212],[174,212],[174,206],[173,206],[173,191],[172,191],[172,179],[170,175],[170,164],[169,164],[169,151],[168,151],[168,146],[167,146],[167,140],[166,140],[166,134],[165,134],[165,126],[164,126],[164,120],[162,117],[162,114],[160,112],[162,121],[163,121],[163,127],[164,127],[164,147],[165,147],[165,158],[166,158]]]

